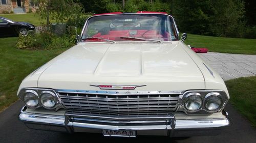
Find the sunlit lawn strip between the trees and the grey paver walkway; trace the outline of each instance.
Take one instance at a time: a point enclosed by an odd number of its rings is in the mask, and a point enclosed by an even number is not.
[[[223,38],[188,34],[191,47],[206,47],[211,52],[256,54],[256,39]]]

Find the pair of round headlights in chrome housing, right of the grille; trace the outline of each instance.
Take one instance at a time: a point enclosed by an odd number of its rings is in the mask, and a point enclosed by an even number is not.
[[[223,91],[187,92],[179,110],[186,113],[213,113],[221,110],[228,100]]]

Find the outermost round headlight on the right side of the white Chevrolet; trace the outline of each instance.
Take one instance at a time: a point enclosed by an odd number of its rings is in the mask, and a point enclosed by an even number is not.
[[[219,94],[219,93],[218,93]],[[222,106],[222,99],[218,94],[208,94],[205,99],[205,108],[209,111],[219,110]]]

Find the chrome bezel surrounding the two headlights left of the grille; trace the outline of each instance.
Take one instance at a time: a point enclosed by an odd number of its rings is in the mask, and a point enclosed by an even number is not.
[[[28,91],[31,91],[33,93],[36,93],[38,95],[38,105],[35,106],[35,107],[30,107],[30,106],[27,106],[28,108],[31,108],[31,109],[47,109],[47,110],[58,110],[60,108],[64,108],[60,102],[60,99],[56,93],[55,90],[53,89],[40,89],[40,88],[23,88],[19,91],[18,93],[18,97],[24,102],[24,96],[26,94],[26,92]],[[54,100],[55,100],[55,105],[51,108],[48,108],[48,107],[45,107],[41,101],[40,101],[40,97],[41,95],[45,94],[45,93],[51,93],[53,96],[54,96]]]

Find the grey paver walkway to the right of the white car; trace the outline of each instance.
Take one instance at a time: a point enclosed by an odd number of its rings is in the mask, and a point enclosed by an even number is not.
[[[231,53],[198,53],[224,80],[256,75],[256,55]]]

